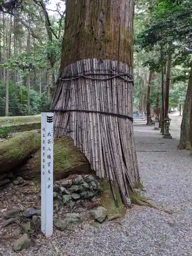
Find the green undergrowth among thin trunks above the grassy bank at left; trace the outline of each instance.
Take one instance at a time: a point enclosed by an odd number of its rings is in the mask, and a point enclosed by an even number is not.
[[[16,102],[14,96],[15,88],[13,82],[9,82],[9,115],[22,116],[27,115],[28,99],[27,88],[20,85],[16,89]],[[5,97],[6,84],[0,82],[0,116],[5,115]],[[51,99],[44,93],[39,93],[33,89],[30,90],[30,114],[37,115],[42,111],[48,111],[50,108]]]

